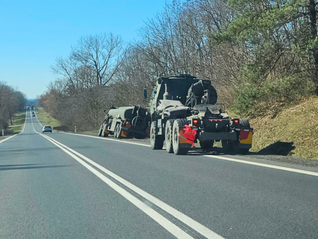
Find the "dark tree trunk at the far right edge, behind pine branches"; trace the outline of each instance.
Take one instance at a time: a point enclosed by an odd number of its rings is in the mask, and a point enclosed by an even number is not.
[[[316,0],[309,1],[309,19],[311,25],[311,33],[312,39],[315,40],[317,38],[317,12],[316,12]],[[313,59],[314,59],[314,76],[313,81],[316,85],[315,93],[318,95],[318,48],[315,47],[312,49]]]

